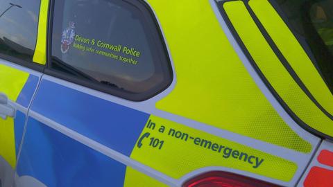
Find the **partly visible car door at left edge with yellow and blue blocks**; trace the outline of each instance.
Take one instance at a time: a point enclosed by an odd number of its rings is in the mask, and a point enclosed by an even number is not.
[[[40,71],[44,68],[42,55],[37,52],[39,48],[43,48],[42,42],[37,37],[39,12],[39,0],[0,1],[0,184],[2,186],[12,184],[28,107],[42,75]],[[44,29],[46,31],[46,28]]]

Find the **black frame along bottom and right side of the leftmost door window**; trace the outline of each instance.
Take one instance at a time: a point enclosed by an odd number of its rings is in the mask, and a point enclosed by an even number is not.
[[[42,0],[40,0],[39,10],[38,10],[39,12],[38,12],[38,22],[37,22],[37,32],[36,32],[36,44],[35,44],[34,53],[36,51],[36,46],[37,46],[38,26],[40,24],[40,6],[41,5],[42,5]],[[6,54],[3,54],[3,53],[0,53],[0,58],[1,58],[1,60],[6,60],[8,62],[12,62],[12,63],[17,64],[19,66],[24,66],[24,67],[26,67],[28,69],[33,69],[35,71],[39,71],[40,73],[43,73],[44,69],[46,67],[46,63],[45,64],[39,64],[37,62],[33,62],[33,60],[23,60],[23,59],[21,59],[19,57],[14,57],[12,55],[6,55]],[[46,62],[47,62],[47,60],[46,60]]]

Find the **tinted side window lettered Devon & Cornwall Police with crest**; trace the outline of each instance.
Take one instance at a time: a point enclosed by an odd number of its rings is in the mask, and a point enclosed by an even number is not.
[[[139,1],[59,0],[53,11],[51,69],[129,100],[171,84],[155,19]]]

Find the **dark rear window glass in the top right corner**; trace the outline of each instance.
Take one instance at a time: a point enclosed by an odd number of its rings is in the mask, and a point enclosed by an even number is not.
[[[333,0],[276,0],[333,93]]]

